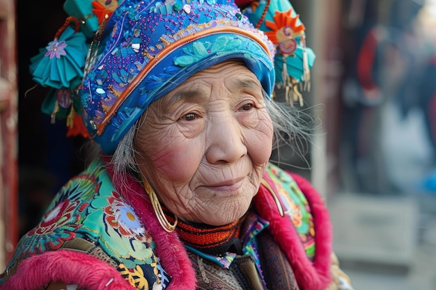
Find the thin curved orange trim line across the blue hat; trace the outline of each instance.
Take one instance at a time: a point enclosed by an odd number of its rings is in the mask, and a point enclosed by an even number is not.
[[[120,105],[124,102],[124,100],[130,95],[130,92],[137,88],[139,86],[139,83],[143,81],[143,78],[148,74],[148,72],[155,67],[155,65],[164,58],[166,54],[169,54],[173,49],[176,49],[180,45],[185,45],[187,42],[191,42],[193,40],[197,40],[205,35],[212,35],[214,33],[238,33],[244,36],[247,36],[263,47],[265,51],[267,52],[267,55],[271,56],[271,51],[268,49],[267,44],[265,41],[260,38],[258,35],[252,33],[251,31],[246,31],[244,29],[240,29],[238,27],[213,27],[210,29],[205,29],[203,31],[199,31],[197,33],[192,33],[192,35],[188,35],[185,38],[181,38],[180,40],[177,40],[176,42],[171,43],[170,45],[164,47],[159,53],[155,56],[155,58],[151,59],[149,63],[146,64],[146,66],[139,72],[139,74],[134,78],[134,80],[121,92],[120,97],[114,102],[114,105],[111,106],[111,109],[107,112],[107,114],[104,116],[104,119],[102,120],[101,124],[98,125],[97,134],[101,135],[104,131],[104,128],[106,128],[107,123],[109,120],[111,120],[112,117],[114,117],[116,111],[120,107]]]

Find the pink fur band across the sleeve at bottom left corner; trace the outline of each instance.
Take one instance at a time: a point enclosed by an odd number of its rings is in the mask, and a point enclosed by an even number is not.
[[[89,290],[134,289],[116,268],[75,250],[56,250],[24,259],[0,289],[34,290],[56,281]]]

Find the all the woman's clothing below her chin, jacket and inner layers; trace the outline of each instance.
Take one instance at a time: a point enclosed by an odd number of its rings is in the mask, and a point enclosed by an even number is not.
[[[332,264],[325,205],[302,177],[270,164],[241,220],[180,221],[167,233],[141,182],[114,188],[111,175],[95,161],[61,188],[17,246],[1,290],[59,281],[78,289],[351,289]]]

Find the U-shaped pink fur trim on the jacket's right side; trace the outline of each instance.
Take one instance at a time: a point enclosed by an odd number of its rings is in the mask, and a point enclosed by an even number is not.
[[[256,210],[270,222],[270,232],[274,240],[288,257],[293,267],[295,278],[302,290],[324,290],[332,282],[330,273],[332,252],[332,225],[328,211],[318,192],[306,179],[290,174],[309,202],[315,224],[316,256],[310,261],[290,218],[282,218],[276,204],[266,188],[260,186],[254,198]]]

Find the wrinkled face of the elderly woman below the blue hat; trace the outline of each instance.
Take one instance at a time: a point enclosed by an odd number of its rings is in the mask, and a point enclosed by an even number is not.
[[[134,144],[143,179],[173,214],[226,225],[249,209],[272,136],[260,82],[227,61],[150,104]]]

